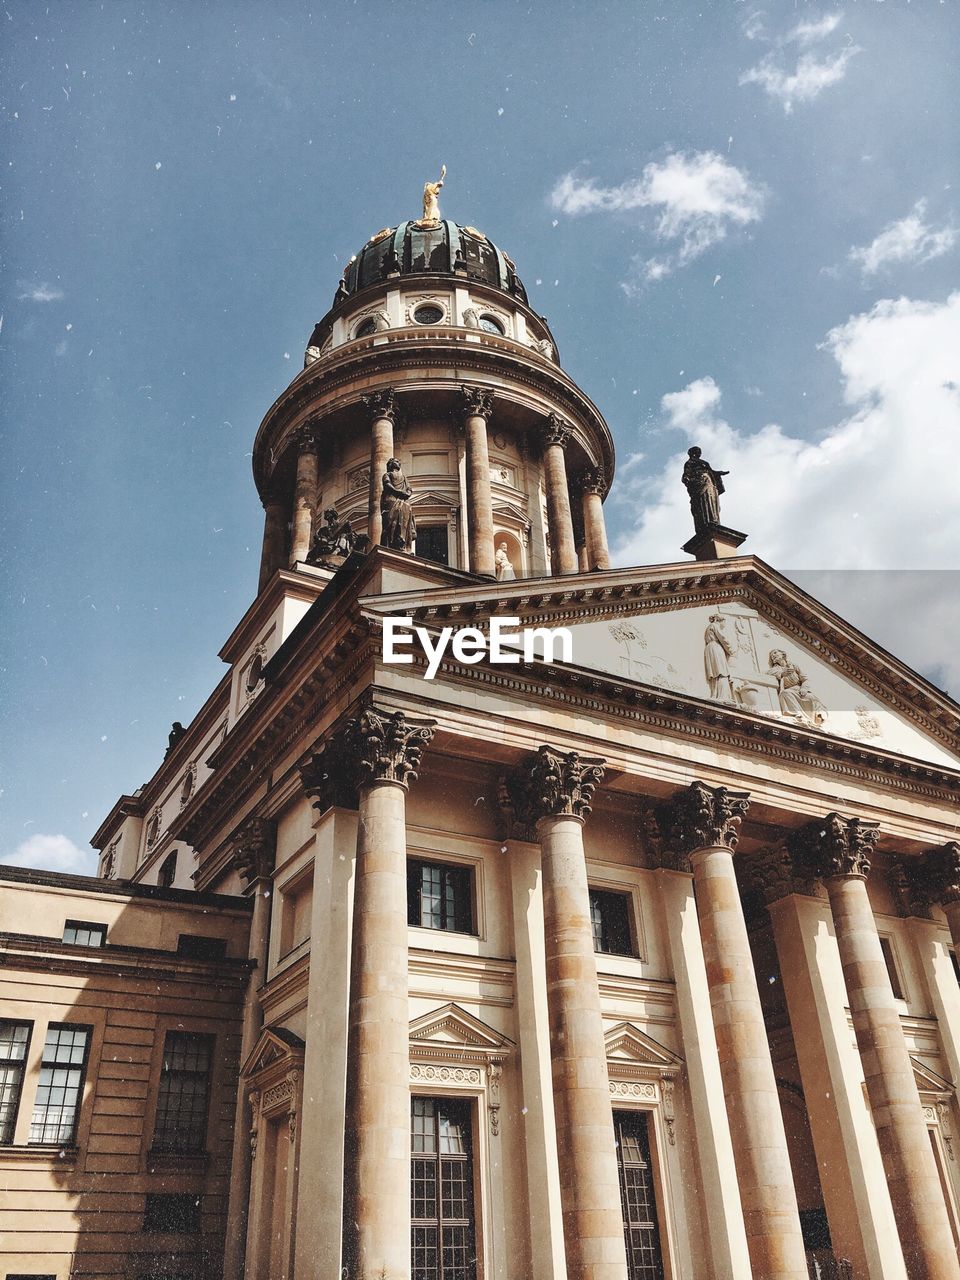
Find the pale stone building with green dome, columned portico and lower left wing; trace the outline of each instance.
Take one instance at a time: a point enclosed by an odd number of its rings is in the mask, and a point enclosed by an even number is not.
[[[100,877],[0,869],[8,1280],[960,1280],[960,707],[699,448],[692,558],[611,567],[611,433],[440,184],[260,425]]]

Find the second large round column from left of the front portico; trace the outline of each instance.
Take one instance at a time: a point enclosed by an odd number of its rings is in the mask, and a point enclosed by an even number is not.
[[[603,762],[541,746],[507,783],[543,867],[547,1007],[568,1280],[626,1280],[584,820]]]

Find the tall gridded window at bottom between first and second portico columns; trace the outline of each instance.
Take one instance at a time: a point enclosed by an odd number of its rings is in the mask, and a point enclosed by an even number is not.
[[[411,1280],[476,1280],[471,1105],[411,1098]]]

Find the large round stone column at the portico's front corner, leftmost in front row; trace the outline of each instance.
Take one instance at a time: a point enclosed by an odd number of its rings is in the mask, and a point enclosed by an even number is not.
[[[406,795],[433,724],[366,707],[337,749],[358,792],[343,1193],[357,1277],[410,1276]]]

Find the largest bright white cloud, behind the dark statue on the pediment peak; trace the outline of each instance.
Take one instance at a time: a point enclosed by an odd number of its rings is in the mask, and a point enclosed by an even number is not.
[[[712,378],[663,397],[663,426],[682,436],[682,448],[659,475],[643,479],[636,468],[620,486],[621,499],[643,513],[616,547],[618,563],[681,558],[680,544],[692,531],[680,483],[690,444],[731,471],[722,518],[745,529],[745,550],[772,564],[947,570],[960,563],[960,292],[943,303],[878,302],[831,330],[823,349],[837,361],[850,412],[817,440],[777,424],[737,430],[721,413]]]

